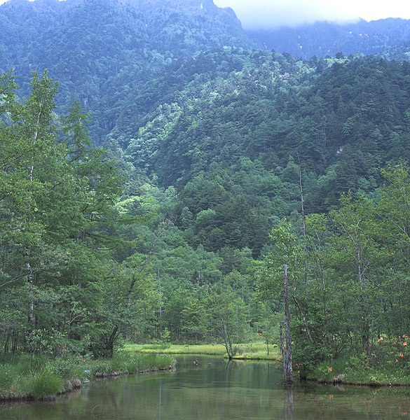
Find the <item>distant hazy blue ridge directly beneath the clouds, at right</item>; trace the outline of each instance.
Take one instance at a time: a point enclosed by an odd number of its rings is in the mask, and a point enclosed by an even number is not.
[[[410,41],[410,20],[383,19],[336,24],[316,22],[300,27],[247,31],[262,48],[310,59],[343,55],[382,54]]]

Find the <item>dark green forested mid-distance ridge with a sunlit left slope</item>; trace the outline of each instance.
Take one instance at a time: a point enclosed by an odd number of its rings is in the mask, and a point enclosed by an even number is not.
[[[410,158],[408,81],[407,62],[302,62],[231,48],[152,80],[152,91],[163,90],[167,100],[138,131],[132,123],[118,127],[128,160],[160,185],[184,188],[201,172],[233,168],[245,157],[279,174],[290,157],[309,174],[310,210],[325,210],[343,191],[376,188],[379,165]],[[144,104],[144,94],[134,102]]]

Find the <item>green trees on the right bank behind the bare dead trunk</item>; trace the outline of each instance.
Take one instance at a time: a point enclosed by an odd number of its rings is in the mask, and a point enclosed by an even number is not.
[[[361,369],[369,372],[407,366],[403,332],[409,329],[408,290],[403,279],[408,277],[409,167],[401,162],[383,175],[388,183],[377,200],[342,195],[339,209],[306,218],[306,236],[299,235],[300,240],[291,225],[278,225],[271,252],[257,265],[260,295],[266,303],[275,302],[280,313],[280,265],[289,261],[294,360],[302,375],[322,360],[339,358],[351,358],[348,365],[354,370],[354,358],[360,355],[365,358]],[[358,377],[350,372],[349,378]]]

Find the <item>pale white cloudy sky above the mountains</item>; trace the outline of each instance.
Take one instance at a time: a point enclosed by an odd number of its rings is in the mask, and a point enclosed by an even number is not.
[[[7,0],[0,0],[0,4]],[[332,22],[410,19],[409,0],[214,0],[231,7],[245,29],[297,26],[316,20]]]

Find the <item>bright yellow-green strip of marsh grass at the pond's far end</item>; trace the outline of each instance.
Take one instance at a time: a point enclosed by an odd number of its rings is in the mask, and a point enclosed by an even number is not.
[[[278,360],[278,346],[269,346],[269,354],[264,342],[235,344],[235,359],[242,360]],[[129,353],[166,353],[166,354],[209,354],[226,357],[226,349],[222,344],[125,344],[125,352]]]

